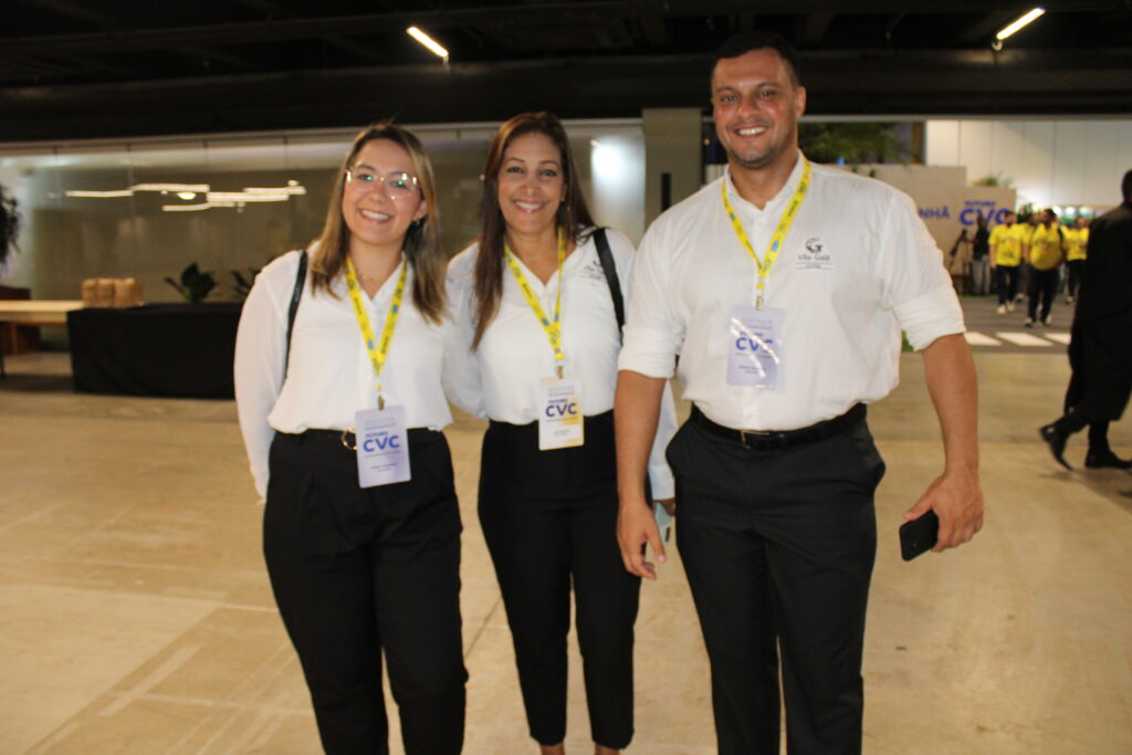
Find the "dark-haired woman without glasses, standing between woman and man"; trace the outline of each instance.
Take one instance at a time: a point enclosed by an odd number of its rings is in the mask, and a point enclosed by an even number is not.
[[[500,127],[483,169],[482,213],[479,241],[448,266],[471,354],[464,375],[475,377],[452,397],[490,420],[479,514],[528,723],[542,753],[565,752],[573,585],[592,739],[597,753],[616,753],[633,737],[640,592],[617,546],[612,415],[614,283],[629,290],[633,246],[594,228],[566,131],[549,113]],[[666,420],[650,471],[655,497],[667,499],[671,411]]]

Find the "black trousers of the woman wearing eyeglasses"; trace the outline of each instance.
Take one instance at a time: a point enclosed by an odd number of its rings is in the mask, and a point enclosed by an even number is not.
[[[278,434],[264,555],[324,749],[388,753],[381,651],[409,755],[464,738],[460,508],[448,444],[410,430],[412,480],[359,488],[336,432]]]

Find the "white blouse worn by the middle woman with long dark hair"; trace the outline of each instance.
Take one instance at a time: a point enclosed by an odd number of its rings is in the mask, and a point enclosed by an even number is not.
[[[628,309],[629,284],[633,277],[633,244],[618,231],[606,231],[617,267],[617,277]],[[460,368],[458,380],[448,383],[448,397],[463,409],[500,422],[528,424],[538,421],[542,378],[555,375],[555,354],[546,331],[531,310],[511,271],[503,271],[503,297],[499,311],[488,326],[479,348],[471,351],[475,326],[473,292],[475,257],[473,243],[448,265],[448,292],[455,312],[457,341],[463,344],[466,361]],[[560,281],[558,274],[542,283],[520,260],[523,274],[539,298],[542,309],[552,317]],[[565,374],[578,378],[582,410],[588,417],[614,407],[617,385],[617,355],[620,337],[598,248],[592,235],[578,246],[563,264],[561,340]],[[676,432],[676,413],[671,395],[666,391],[663,411],[649,475],[654,498],[675,495],[671,471],[664,461],[664,448]]]

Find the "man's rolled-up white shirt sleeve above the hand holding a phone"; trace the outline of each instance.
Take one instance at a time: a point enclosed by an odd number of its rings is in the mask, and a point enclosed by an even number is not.
[[[941,336],[963,333],[963,310],[943,267],[943,252],[910,197],[893,195],[882,228],[878,265],[884,306],[892,310],[908,342],[920,351]]]

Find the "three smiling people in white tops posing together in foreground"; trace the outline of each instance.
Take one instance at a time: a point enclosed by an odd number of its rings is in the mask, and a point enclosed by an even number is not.
[[[565,753],[572,593],[594,752],[628,746],[641,578],[674,506],[719,752],[778,753],[783,698],[791,752],[860,752],[885,471],[866,404],[897,385],[904,331],[945,464],[903,520],[935,512],[936,551],[969,541],[983,495],[962,311],[909,197],[800,152],[806,89],[780,36],[728,41],[711,102],[728,172],[636,254],[593,221],[540,112],[496,134],[480,234],[447,267],[428,155],[379,123],[345,155],[319,238],[256,278],[239,418],[327,753],[388,753],[383,659],[405,752],[463,747],[448,402],[488,420],[479,517],[543,755]],[[693,402],[679,431],[674,375]]]

